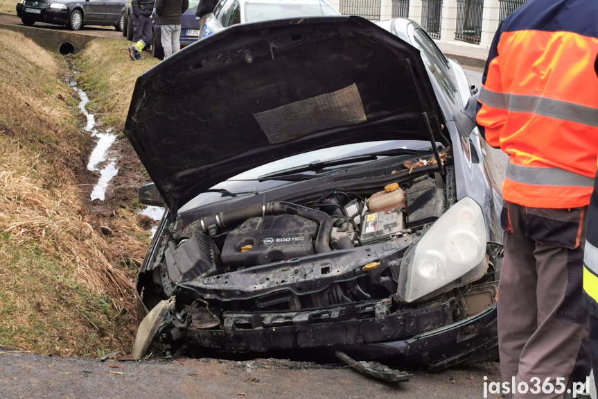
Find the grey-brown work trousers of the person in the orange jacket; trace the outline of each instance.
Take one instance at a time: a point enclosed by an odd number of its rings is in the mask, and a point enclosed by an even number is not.
[[[564,384],[590,374],[588,311],[583,306],[587,207],[539,209],[505,201],[504,260],[498,288],[502,381],[534,387],[547,377]],[[517,393],[507,398],[563,398]]]

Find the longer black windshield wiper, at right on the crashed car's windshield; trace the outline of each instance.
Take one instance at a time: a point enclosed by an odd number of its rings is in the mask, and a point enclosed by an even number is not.
[[[308,171],[313,172],[322,172],[324,168],[328,167],[336,167],[344,164],[353,164],[356,162],[367,162],[367,161],[375,161],[378,160],[378,157],[394,157],[398,155],[427,155],[432,151],[431,149],[427,150],[410,150],[407,148],[394,148],[392,150],[387,151],[378,151],[376,153],[368,153],[364,155],[353,155],[351,157],[340,158],[337,160],[330,160],[330,161],[314,161],[309,164],[304,164],[298,167],[292,167],[289,169],[284,169],[282,171],[277,171],[274,173],[268,173],[263,176],[257,178],[259,181],[263,180],[285,180],[285,181],[299,181],[299,180],[309,180],[312,178],[317,178],[319,176],[315,175],[306,175],[301,174]]]

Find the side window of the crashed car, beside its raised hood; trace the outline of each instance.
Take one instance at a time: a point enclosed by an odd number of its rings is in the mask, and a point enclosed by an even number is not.
[[[441,51],[436,44],[434,44],[432,39],[430,39],[428,34],[420,28],[414,29],[413,37],[416,46],[418,46],[421,51],[421,56],[426,67],[432,72],[432,77],[436,80],[448,101],[457,103],[457,97],[455,96],[457,88],[455,87],[455,84],[452,83],[448,64]]]

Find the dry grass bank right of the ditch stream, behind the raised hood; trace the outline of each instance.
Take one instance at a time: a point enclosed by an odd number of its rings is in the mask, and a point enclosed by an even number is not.
[[[81,74],[77,81],[85,86],[90,106],[105,124],[117,130],[125,126],[133,88],[137,77],[159,60],[143,51],[143,59],[133,62],[122,40],[94,40],[77,57],[76,66]]]

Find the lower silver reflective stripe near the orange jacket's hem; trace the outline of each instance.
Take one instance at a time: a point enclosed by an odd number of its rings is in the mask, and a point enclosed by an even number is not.
[[[507,178],[526,185],[594,187],[594,179],[559,168],[523,167],[507,164]]]

